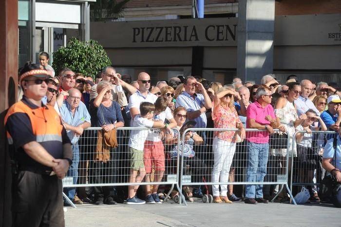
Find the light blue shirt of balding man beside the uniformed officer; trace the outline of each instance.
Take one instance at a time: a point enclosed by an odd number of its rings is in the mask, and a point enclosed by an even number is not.
[[[60,107],[60,115],[65,123],[72,126],[78,126],[85,121],[91,123],[90,114],[86,109],[85,104],[81,101],[79,101],[79,106],[76,108],[75,115],[73,115],[70,104],[64,100],[62,106]],[[67,130],[66,132],[71,140],[71,143],[73,145],[77,144],[79,136],[75,136],[75,132],[71,130]]]

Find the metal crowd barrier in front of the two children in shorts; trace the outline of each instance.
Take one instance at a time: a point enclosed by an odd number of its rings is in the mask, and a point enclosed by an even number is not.
[[[75,169],[69,168],[67,176],[63,179],[63,188],[77,188],[77,187],[114,187],[114,186],[131,186],[131,185],[171,185],[169,193],[163,202],[166,202],[170,196],[172,189],[179,188],[179,151],[177,151],[177,158],[170,161],[168,156],[165,156],[163,163],[165,164],[165,172],[161,181],[155,182],[141,182],[129,183],[129,176],[131,170],[131,161],[129,155],[129,138],[132,131],[146,131],[156,130],[148,128],[133,128],[124,127],[117,128],[117,148],[107,146],[103,140],[98,140],[98,131],[102,128],[88,128],[84,130],[82,136],[78,140],[79,154],[74,154],[73,166]],[[180,132],[178,132],[180,134]],[[145,144],[145,140],[141,138],[139,144]],[[176,143],[180,143],[180,136]],[[170,145],[163,143],[165,148]],[[178,148],[177,148],[178,149]],[[100,152],[102,151],[102,152]],[[146,160],[139,160],[145,162]],[[76,164],[78,162],[78,165]],[[155,170],[154,160],[152,163],[152,173]],[[152,178],[152,177],[151,177]],[[64,198],[73,207],[76,206],[63,193]],[[180,195],[183,196],[183,195]],[[186,205],[186,204],[185,204]]]

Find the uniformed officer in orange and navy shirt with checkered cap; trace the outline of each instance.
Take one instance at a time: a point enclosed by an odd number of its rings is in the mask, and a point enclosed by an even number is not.
[[[13,226],[64,226],[62,181],[72,149],[60,117],[45,106],[48,73],[26,63],[19,84],[22,99],[8,110],[5,127],[12,158]]]

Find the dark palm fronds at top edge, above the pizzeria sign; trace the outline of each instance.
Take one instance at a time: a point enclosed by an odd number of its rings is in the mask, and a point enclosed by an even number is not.
[[[123,16],[126,3],[130,0],[96,0],[90,2],[91,21],[111,21]]]

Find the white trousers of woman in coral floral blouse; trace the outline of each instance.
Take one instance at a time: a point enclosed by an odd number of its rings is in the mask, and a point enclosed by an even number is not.
[[[232,164],[234,152],[236,151],[236,143],[227,142],[225,140],[213,139],[213,159],[214,165],[212,170],[212,182],[220,182],[219,185],[212,185],[213,196],[227,196],[228,173]]]

